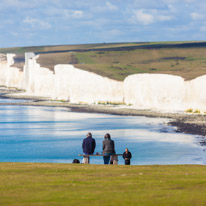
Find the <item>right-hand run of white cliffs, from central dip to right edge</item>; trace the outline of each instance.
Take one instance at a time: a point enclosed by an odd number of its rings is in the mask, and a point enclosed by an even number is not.
[[[135,74],[124,80],[125,103],[136,108],[206,111],[206,75],[191,81],[167,74]]]

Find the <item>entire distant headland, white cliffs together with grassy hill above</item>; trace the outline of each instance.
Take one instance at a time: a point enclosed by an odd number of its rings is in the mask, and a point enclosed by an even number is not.
[[[49,51],[16,48],[0,54],[0,85],[76,105],[205,115],[205,45],[133,42],[65,45]]]

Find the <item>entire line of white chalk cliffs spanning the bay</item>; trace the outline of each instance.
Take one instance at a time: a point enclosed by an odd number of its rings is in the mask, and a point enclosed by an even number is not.
[[[24,89],[27,94],[71,103],[121,103],[138,109],[206,112],[206,75],[191,81],[166,74],[134,74],[116,81],[69,64],[54,72],[25,54],[24,69],[12,67],[15,54],[0,55],[0,85]]]

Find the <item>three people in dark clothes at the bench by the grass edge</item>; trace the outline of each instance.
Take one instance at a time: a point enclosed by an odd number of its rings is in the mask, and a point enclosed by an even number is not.
[[[82,149],[85,155],[93,155],[94,150],[96,148],[96,141],[92,137],[92,133],[88,132],[87,137],[83,140]],[[104,141],[102,142],[102,154],[104,159],[104,164],[112,164],[113,159],[111,158],[112,155],[115,155],[115,145],[114,141],[111,139],[109,133],[104,135]],[[128,148],[125,149],[122,157],[125,160],[125,165],[130,165],[130,159],[132,158],[131,152],[129,152]]]

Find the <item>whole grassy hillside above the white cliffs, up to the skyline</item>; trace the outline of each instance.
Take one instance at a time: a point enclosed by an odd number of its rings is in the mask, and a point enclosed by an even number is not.
[[[56,64],[73,64],[115,80],[136,73],[173,74],[191,80],[206,74],[206,42],[143,42],[4,48],[16,53],[22,67],[25,52],[40,54],[38,63],[54,69]]]

